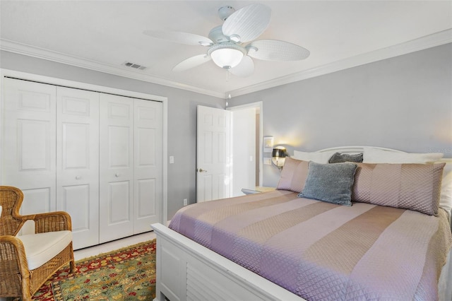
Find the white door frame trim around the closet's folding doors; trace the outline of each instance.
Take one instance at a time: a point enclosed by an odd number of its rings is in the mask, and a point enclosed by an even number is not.
[[[83,90],[93,90],[97,92],[110,93],[116,95],[124,95],[129,96],[131,98],[141,98],[143,100],[155,100],[162,102],[162,220],[163,224],[167,224],[167,216],[168,216],[168,170],[167,170],[167,158],[168,158],[168,98],[159,96],[159,95],[151,95],[145,93],[139,93],[131,90],[122,90],[117,88],[109,88],[102,85],[93,85],[90,83],[81,83],[78,81],[68,81],[61,78],[52,78],[49,76],[41,76],[33,73],[25,73],[20,71],[14,71],[10,69],[0,69],[0,116],[4,114],[4,78],[18,78],[28,81],[37,81],[40,83],[49,83],[51,85],[63,85],[69,88],[79,88]],[[0,124],[0,133],[4,129]],[[1,139],[0,139],[1,143]],[[0,150],[2,146],[0,144]],[[2,154],[0,153],[0,156]],[[0,160],[0,170],[1,170],[1,160]],[[0,174],[0,183],[3,182]],[[150,229],[151,230],[151,229]]]

